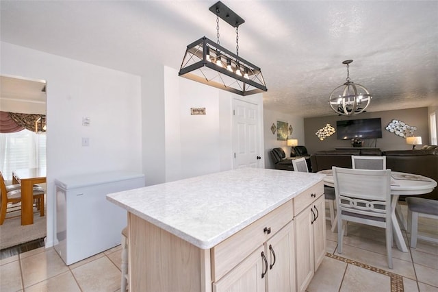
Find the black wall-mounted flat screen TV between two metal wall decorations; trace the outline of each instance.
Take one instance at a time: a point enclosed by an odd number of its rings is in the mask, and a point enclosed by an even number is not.
[[[336,121],[338,139],[382,138],[381,118]]]

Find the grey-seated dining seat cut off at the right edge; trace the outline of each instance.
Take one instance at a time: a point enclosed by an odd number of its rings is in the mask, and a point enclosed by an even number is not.
[[[408,231],[411,232],[411,247],[417,247],[417,239],[438,243],[438,239],[435,237],[418,234],[418,217],[438,219],[438,201],[422,197],[407,197],[406,202],[408,204]]]

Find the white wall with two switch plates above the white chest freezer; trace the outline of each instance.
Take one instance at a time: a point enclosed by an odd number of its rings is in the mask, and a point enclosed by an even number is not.
[[[140,77],[1,42],[1,74],[47,81],[47,246],[55,178],[142,171]],[[91,125],[82,126],[82,117]],[[81,138],[90,139],[89,147]]]

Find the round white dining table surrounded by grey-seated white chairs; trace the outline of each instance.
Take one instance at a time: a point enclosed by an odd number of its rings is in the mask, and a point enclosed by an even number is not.
[[[318,171],[318,173],[326,175],[324,177],[324,184],[326,186],[335,186],[331,169]],[[396,239],[398,249],[402,252],[408,252],[408,248],[403,239],[398,220],[400,220],[400,223],[404,229],[407,228],[407,222],[405,221],[400,210],[398,198],[400,195],[422,195],[430,193],[435,187],[437,187],[437,182],[431,178],[413,173],[391,171],[391,220],[395,235],[394,239]]]

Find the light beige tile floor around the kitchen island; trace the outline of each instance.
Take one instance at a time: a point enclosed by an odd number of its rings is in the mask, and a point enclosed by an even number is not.
[[[421,223],[420,230],[438,235],[437,221]],[[393,247],[391,270],[383,229],[349,223],[338,254],[337,233],[330,227],[327,221],[327,256],[307,291],[389,292],[391,285],[392,291],[438,291],[438,245],[418,241],[407,253]],[[407,240],[406,231],[404,236]],[[66,266],[52,247],[40,247],[0,260],[0,291],[120,291],[120,255],[119,245]]]

